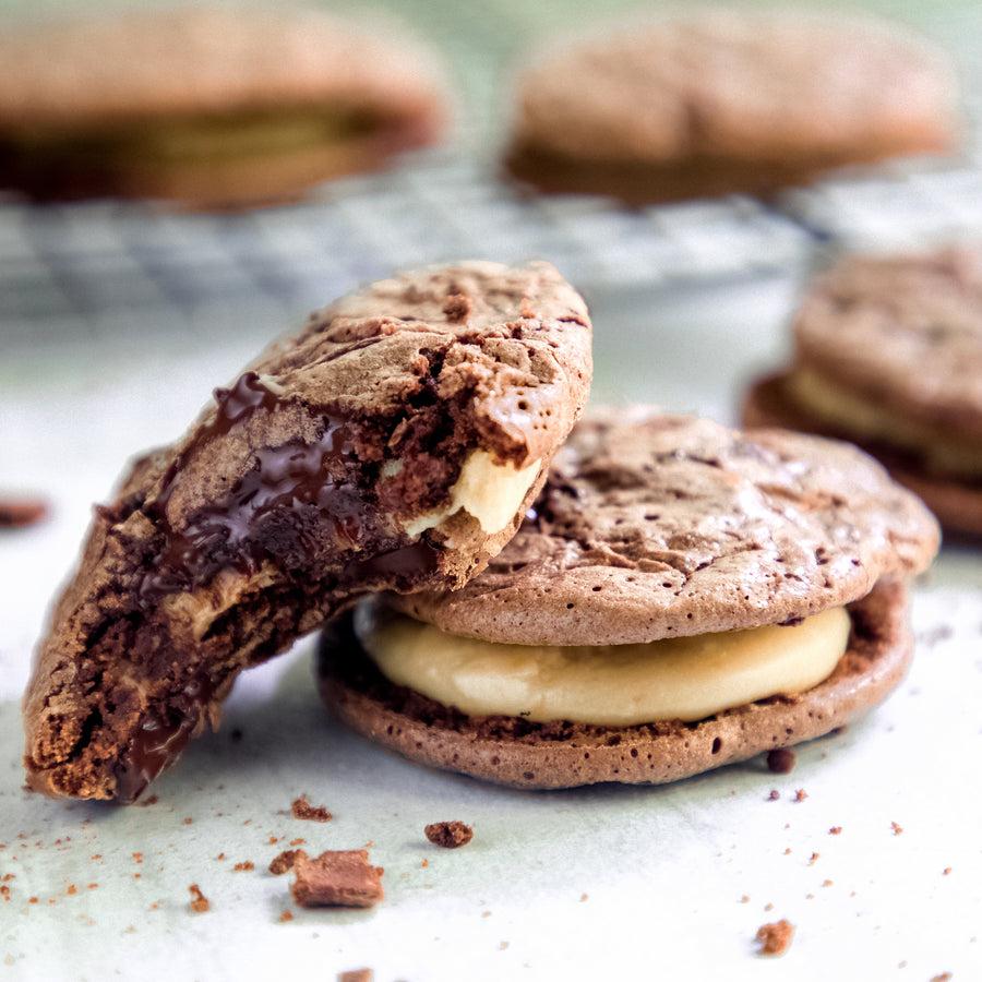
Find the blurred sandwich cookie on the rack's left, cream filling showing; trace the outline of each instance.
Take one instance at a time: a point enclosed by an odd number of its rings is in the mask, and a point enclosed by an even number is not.
[[[315,10],[94,14],[0,36],[0,184],[194,207],[296,197],[435,141],[436,59]]]

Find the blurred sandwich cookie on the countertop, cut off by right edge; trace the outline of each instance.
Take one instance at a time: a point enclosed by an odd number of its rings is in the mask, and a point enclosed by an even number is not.
[[[750,390],[744,423],[850,440],[946,531],[982,535],[982,248],[843,259],[793,331],[792,366]]]

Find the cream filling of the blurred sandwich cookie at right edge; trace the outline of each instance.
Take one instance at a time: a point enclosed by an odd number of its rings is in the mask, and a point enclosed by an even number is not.
[[[788,379],[787,391],[799,406],[843,435],[914,454],[936,474],[982,478],[982,446],[978,442],[901,416],[813,368],[797,368]]]

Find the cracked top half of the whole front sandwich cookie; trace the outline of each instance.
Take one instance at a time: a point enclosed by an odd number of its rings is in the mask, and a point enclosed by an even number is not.
[[[795,621],[925,568],[937,524],[862,452],[595,410],[488,570],[402,610],[491,642],[611,645]]]

